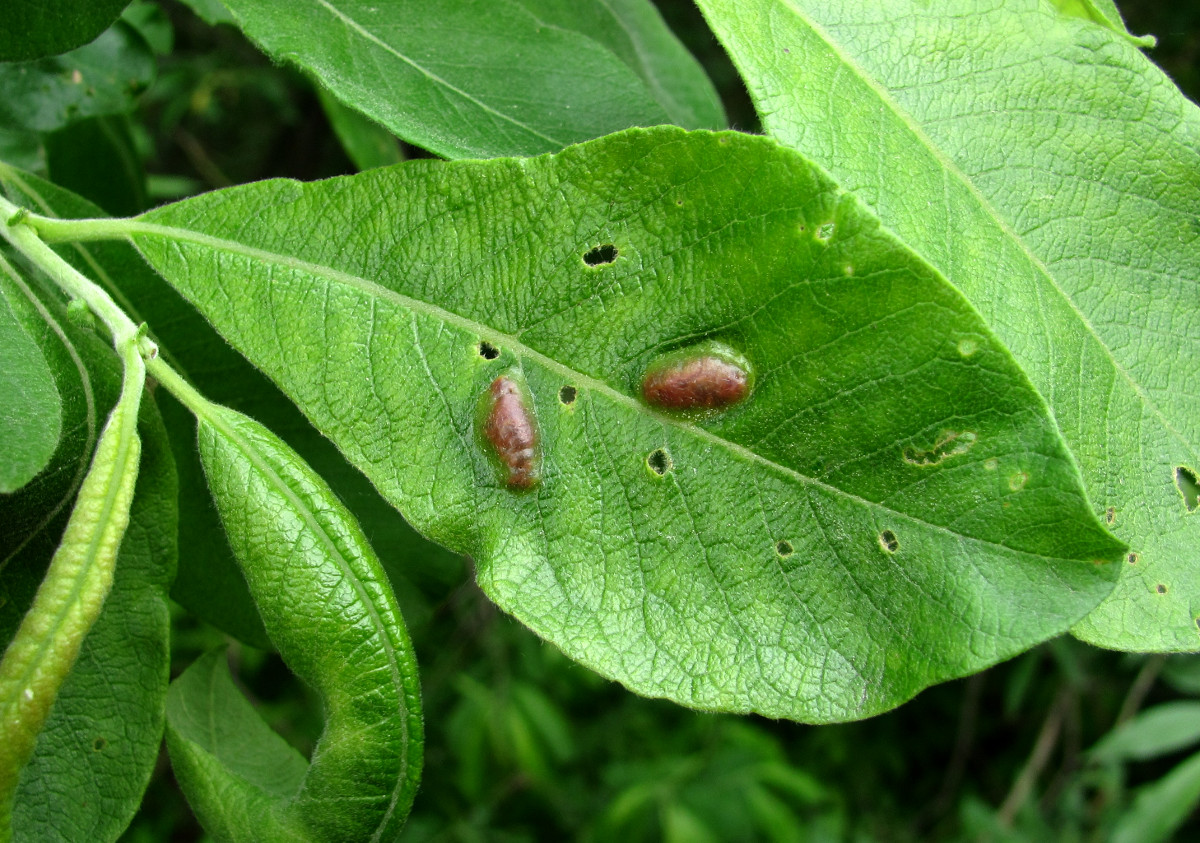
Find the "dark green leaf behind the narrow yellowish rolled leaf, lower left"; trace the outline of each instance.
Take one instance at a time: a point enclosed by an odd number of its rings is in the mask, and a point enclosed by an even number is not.
[[[142,465],[113,588],[22,772],[18,842],[115,841],[158,760],[178,488],[166,429],[146,397],[140,432]]]

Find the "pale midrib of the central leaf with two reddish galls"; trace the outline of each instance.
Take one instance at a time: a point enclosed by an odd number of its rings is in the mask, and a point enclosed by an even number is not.
[[[72,223],[74,226],[86,225],[86,222],[88,221],[84,221],[84,220],[72,221]],[[355,288],[355,289],[358,289],[358,291],[360,291],[362,293],[366,293],[368,295],[374,295],[374,297],[378,297],[378,298],[382,298],[382,299],[389,299],[389,300],[391,300],[391,301],[394,301],[394,303],[396,303],[396,304],[401,305],[402,307],[406,307],[406,309],[408,309],[410,311],[414,311],[416,313],[421,313],[424,316],[433,317],[433,318],[439,319],[442,322],[445,322],[445,323],[448,323],[448,324],[450,324],[450,325],[452,325],[455,328],[458,328],[461,330],[475,334],[475,335],[478,335],[478,336],[480,336],[480,337],[482,337],[485,340],[488,340],[490,342],[492,342],[497,347],[511,348],[516,354],[518,354],[521,357],[528,357],[528,358],[533,359],[534,361],[539,363],[540,365],[545,366],[546,369],[562,375],[563,378],[566,379],[566,381],[581,384],[581,385],[583,385],[583,387],[586,387],[586,388],[588,388],[588,389],[590,389],[590,390],[593,390],[595,393],[600,393],[600,394],[605,395],[606,397],[608,397],[610,400],[612,400],[613,402],[623,405],[623,406],[625,406],[625,407],[628,407],[630,409],[634,409],[634,411],[636,411],[638,413],[642,413],[643,415],[649,415],[649,417],[654,418],[656,422],[660,422],[662,424],[672,425],[672,426],[679,428],[682,430],[685,430],[689,434],[696,436],[697,438],[700,438],[700,440],[702,440],[704,442],[708,442],[710,444],[714,444],[714,446],[718,446],[720,448],[724,448],[724,449],[728,450],[730,453],[740,456],[742,459],[746,460],[748,462],[754,462],[754,464],[761,465],[764,468],[767,468],[767,470],[769,470],[772,472],[775,472],[776,474],[780,474],[780,476],[782,476],[782,477],[785,477],[785,478],[787,478],[790,480],[799,483],[802,485],[806,484],[806,485],[815,486],[817,489],[821,489],[823,491],[828,491],[828,492],[830,492],[833,495],[836,495],[839,497],[842,497],[842,498],[845,498],[847,501],[851,501],[853,503],[860,504],[860,506],[866,507],[869,509],[874,509],[874,510],[882,512],[882,513],[888,513],[890,515],[895,515],[896,518],[904,519],[904,520],[906,520],[906,521],[908,521],[911,524],[918,524],[918,525],[922,525],[922,526],[928,527],[930,530],[944,533],[947,536],[953,537],[954,539],[966,539],[966,540],[977,542],[979,544],[988,545],[988,546],[1002,548],[1003,550],[1006,550],[1008,552],[1019,554],[1021,556],[1033,556],[1034,558],[1051,558],[1051,557],[1044,557],[1044,556],[1040,556],[1040,555],[1037,555],[1037,554],[1032,554],[1030,551],[1019,550],[1016,548],[1009,548],[1008,545],[1001,544],[998,542],[991,542],[991,540],[988,540],[988,539],[976,538],[973,536],[964,536],[961,533],[956,533],[956,532],[954,532],[954,531],[952,531],[952,530],[949,530],[949,528],[947,528],[947,527],[944,527],[942,525],[931,524],[929,521],[925,521],[923,519],[916,518],[916,516],[910,515],[907,513],[896,512],[896,510],[894,510],[894,509],[892,509],[892,508],[889,508],[889,507],[887,507],[887,506],[884,506],[882,503],[876,503],[874,501],[868,501],[866,498],[859,497],[858,495],[854,495],[852,492],[847,492],[844,489],[839,489],[838,486],[829,485],[828,483],[823,483],[821,480],[817,480],[816,478],[811,478],[811,477],[808,477],[806,474],[802,474],[800,472],[798,472],[798,471],[796,471],[793,468],[788,468],[787,466],[780,465],[780,464],[775,462],[774,460],[768,460],[767,458],[762,456],[761,454],[756,454],[755,452],[750,450],[745,446],[742,446],[742,444],[738,444],[737,442],[731,442],[730,440],[726,440],[726,438],[722,438],[720,436],[716,436],[715,434],[712,434],[708,430],[704,430],[703,428],[698,428],[696,425],[688,424],[686,422],[682,422],[682,420],[676,419],[673,417],[670,417],[670,415],[667,415],[665,413],[659,413],[659,412],[656,412],[656,411],[647,407],[644,403],[635,400],[634,397],[631,397],[629,395],[625,395],[624,393],[620,393],[620,391],[613,389],[612,387],[610,387],[604,381],[598,381],[598,379],[595,379],[595,378],[593,378],[593,377],[590,377],[588,375],[584,375],[582,372],[575,371],[574,369],[570,369],[569,366],[566,366],[566,365],[564,365],[562,363],[558,363],[553,358],[550,358],[550,357],[542,354],[541,352],[539,352],[539,351],[536,351],[534,348],[530,348],[529,346],[527,346],[523,342],[521,342],[520,340],[517,340],[515,336],[511,336],[509,334],[503,334],[503,333],[500,333],[498,330],[494,330],[493,328],[490,328],[490,327],[487,327],[487,325],[485,325],[482,323],[475,322],[474,319],[470,319],[470,318],[468,318],[466,316],[461,316],[460,313],[451,312],[449,310],[439,307],[438,305],[431,304],[428,301],[422,301],[420,299],[414,299],[414,298],[410,298],[408,295],[404,295],[403,293],[397,293],[396,291],[388,289],[386,287],[383,287],[383,286],[380,286],[380,285],[378,285],[378,283],[376,283],[373,281],[368,281],[368,280],[359,277],[356,275],[352,275],[349,273],[343,273],[341,270],[332,269],[331,267],[325,267],[325,265],[322,265],[322,264],[310,263],[307,261],[299,261],[299,259],[288,257],[286,255],[278,255],[276,252],[269,252],[266,250],[256,249],[253,246],[246,246],[246,245],[244,245],[241,243],[236,243],[236,241],[233,241],[233,240],[226,240],[226,239],[222,239],[222,238],[217,238],[217,237],[212,237],[212,235],[209,235],[209,234],[203,234],[203,233],[199,233],[199,232],[193,232],[193,231],[188,231],[188,229],[184,229],[184,228],[173,228],[170,226],[161,226],[161,225],[152,223],[152,222],[142,222],[139,220],[100,220],[97,222],[100,222],[101,226],[103,226],[103,228],[107,229],[107,231],[119,231],[119,232],[121,232],[121,233],[124,233],[126,235],[145,234],[145,235],[151,235],[151,237],[166,238],[168,240],[176,241],[176,243],[191,243],[191,244],[194,244],[194,245],[198,245],[198,246],[205,246],[208,249],[212,249],[214,251],[228,252],[228,253],[232,253],[232,255],[238,255],[238,256],[252,258],[254,261],[260,261],[263,263],[270,263],[270,264],[275,264],[275,265],[278,265],[278,267],[283,267],[283,268],[287,268],[287,269],[290,269],[290,270],[307,273],[307,274],[313,275],[316,277],[324,277],[324,279],[326,279],[329,281],[335,281],[335,282],[338,282],[338,283],[347,285],[347,286],[353,287],[353,288]],[[137,245],[137,244],[134,243],[134,245]],[[1057,558],[1057,557],[1054,557],[1054,558]]]

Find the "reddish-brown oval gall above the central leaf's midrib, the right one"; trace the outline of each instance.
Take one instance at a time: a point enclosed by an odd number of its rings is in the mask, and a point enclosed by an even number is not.
[[[709,341],[655,360],[642,378],[642,397],[664,409],[707,412],[744,401],[752,385],[749,361]]]

